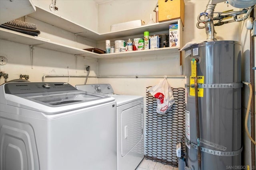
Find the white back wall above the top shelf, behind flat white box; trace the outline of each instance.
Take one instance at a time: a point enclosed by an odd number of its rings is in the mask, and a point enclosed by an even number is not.
[[[150,21],[157,0],[112,0],[98,5],[98,32],[109,32],[111,25],[134,20]],[[114,37],[113,37],[114,38]]]

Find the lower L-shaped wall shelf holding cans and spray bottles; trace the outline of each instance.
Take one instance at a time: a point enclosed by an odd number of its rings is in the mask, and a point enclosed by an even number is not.
[[[120,53],[108,53],[108,54],[97,54],[83,49],[78,49],[75,47],[70,47],[68,45],[63,45],[60,43],[52,42],[48,39],[34,37],[24,33],[19,33],[5,28],[0,28],[0,39],[7,41],[13,41],[17,43],[22,43],[26,45],[36,45],[37,47],[42,47],[45,49],[50,49],[54,51],[60,51],[63,53],[80,55],[84,57],[93,57],[97,59],[109,59],[109,58],[124,58],[124,57],[138,57],[139,56],[158,56],[158,55],[168,55],[170,53],[177,53],[178,47],[166,47],[159,49],[148,49],[141,51],[126,51]]]

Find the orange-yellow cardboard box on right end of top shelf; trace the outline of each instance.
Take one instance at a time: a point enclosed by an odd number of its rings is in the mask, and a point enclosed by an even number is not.
[[[180,18],[184,26],[184,0],[158,0],[158,21]]]

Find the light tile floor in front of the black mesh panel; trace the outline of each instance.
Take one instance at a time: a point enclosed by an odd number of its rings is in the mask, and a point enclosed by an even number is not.
[[[153,162],[152,160],[143,159],[136,170],[178,170],[170,165],[165,165],[160,162]]]

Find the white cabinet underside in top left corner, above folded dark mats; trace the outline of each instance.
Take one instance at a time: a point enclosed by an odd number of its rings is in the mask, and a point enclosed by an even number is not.
[[[0,24],[36,11],[31,0],[0,0]]]

